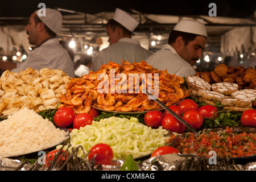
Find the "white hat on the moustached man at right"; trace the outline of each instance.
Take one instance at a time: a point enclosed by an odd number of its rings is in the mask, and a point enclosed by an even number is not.
[[[205,25],[194,19],[181,19],[174,27],[174,30],[207,37]]]

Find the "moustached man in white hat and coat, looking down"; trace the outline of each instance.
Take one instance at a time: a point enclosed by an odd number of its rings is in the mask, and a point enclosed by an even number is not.
[[[168,44],[145,61],[154,68],[180,77],[195,75],[192,65],[202,56],[207,42],[207,29],[194,19],[180,20],[170,32]]]

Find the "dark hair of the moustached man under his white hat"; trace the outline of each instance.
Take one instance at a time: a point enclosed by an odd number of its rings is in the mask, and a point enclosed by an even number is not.
[[[172,30],[169,34],[168,44],[175,43],[178,36],[182,37],[182,39],[185,42],[185,46],[187,46],[189,42],[193,41],[196,38],[196,36],[199,36],[199,35]]]

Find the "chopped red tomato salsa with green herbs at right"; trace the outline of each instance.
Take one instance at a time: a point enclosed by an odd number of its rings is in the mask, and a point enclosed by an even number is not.
[[[196,137],[194,133],[177,136],[174,147],[181,154],[196,153],[207,156],[215,151],[218,158],[237,158],[256,155],[256,133],[234,133],[232,128],[226,127],[221,133],[202,133]]]

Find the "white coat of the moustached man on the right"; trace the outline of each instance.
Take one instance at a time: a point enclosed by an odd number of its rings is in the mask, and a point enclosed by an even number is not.
[[[196,73],[192,66],[180,57],[169,44],[165,44],[161,50],[149,56],[145,61],[159,70],[167,69],[171,75],[187,77]]]

